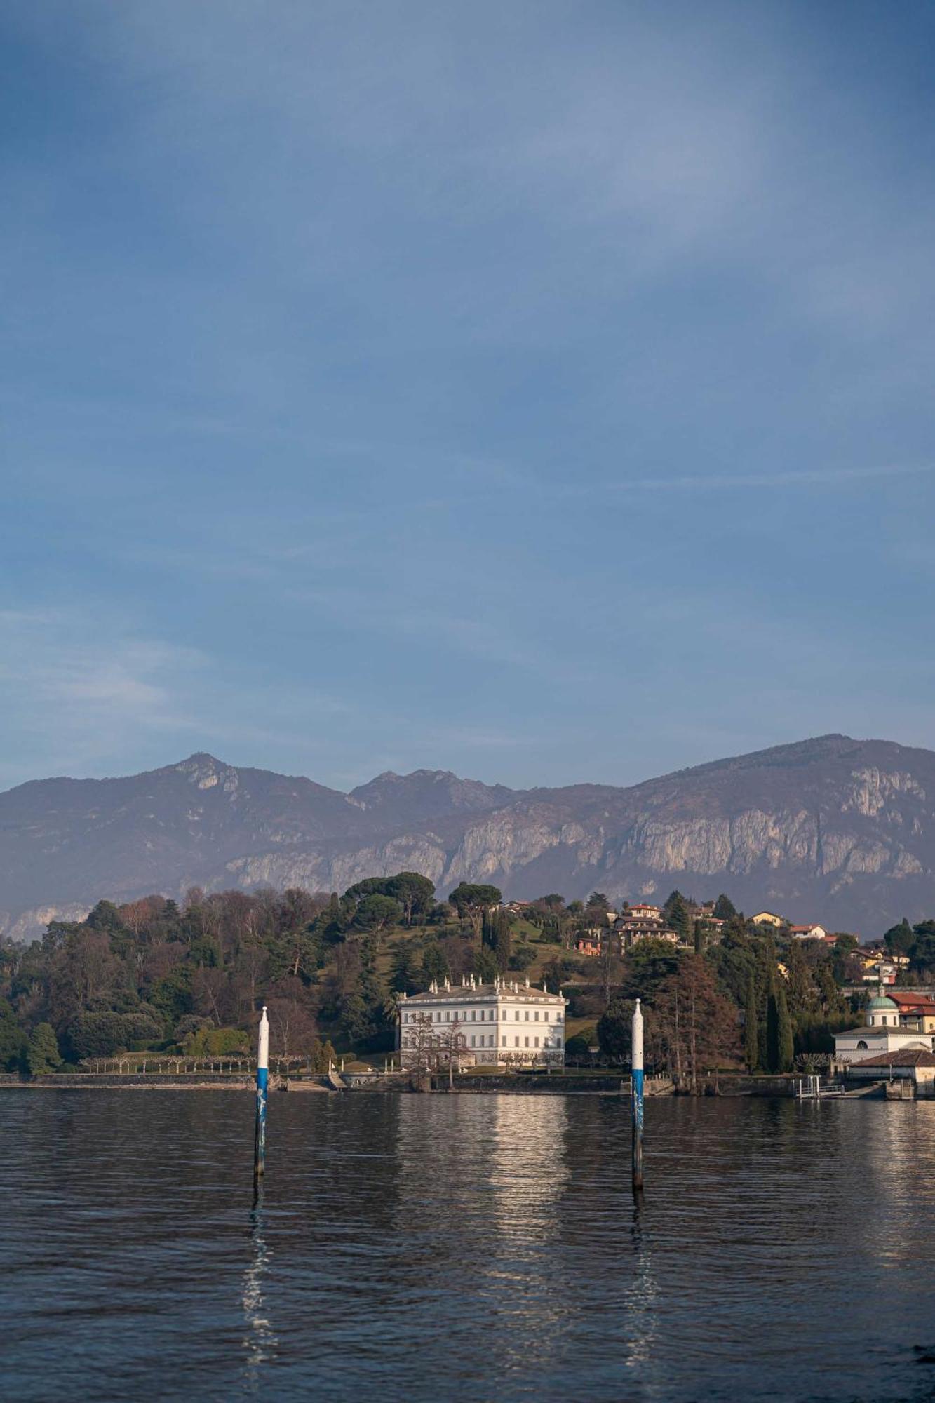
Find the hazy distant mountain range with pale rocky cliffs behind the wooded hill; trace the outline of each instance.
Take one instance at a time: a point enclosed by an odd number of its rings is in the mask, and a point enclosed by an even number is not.
[[[747,911],[869,937],[935,913],[935,753],[824,735],[632,788],[515,791],[416,770],[351,794],[192,755],[0,794],[0,923],[15,936],[100,897],[343,891],[400,868],[439,894],[462,878],[567,899],[727,891]]]

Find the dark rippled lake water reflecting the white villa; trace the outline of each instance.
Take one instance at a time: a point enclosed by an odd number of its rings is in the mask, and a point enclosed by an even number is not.
[[[1,1393],[921,1400],[935,1103],[0,1092]]]

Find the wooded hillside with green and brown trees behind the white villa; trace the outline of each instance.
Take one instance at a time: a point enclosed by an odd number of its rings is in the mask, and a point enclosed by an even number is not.
[[[695,1069],[775,1068],[827,1051],[861,1003],[841,992],[862,976],[854,936],[828,944],[767,933],[727,897],[715,908],[719,926],[691,920],[674,891],[664,911],[681,944],[644,939],[626,951],[608,927],[605,892],[567,904],[549,894],[518,911],[500,898],[489,884],[460,882],[439,902],[431,881],[397,873],[341,897],[192,888],[181,904],[100,901],[86,920],[52,922],[29,946],[0,943],[0,1068],[48,1070],[142,1048],[248,1049],[261,1002],[275,1055],[316,1065],[327,1047],[379,1055],[393,1047],[399,993],[497,974],[563,989],[571,1059],[598,1041],[625,1056],[640,995],[657,1063],[684,1062],[691,1024]],[[597,958],[576,950],[584,936],[599,944]],[[934,922],[897,923],[886,946],[907,957],[903,982],[935,975]]]

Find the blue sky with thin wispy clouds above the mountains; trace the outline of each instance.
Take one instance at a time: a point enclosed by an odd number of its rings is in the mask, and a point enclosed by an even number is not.
[[[10,0],[0,784],[935,745],[935,10]]]

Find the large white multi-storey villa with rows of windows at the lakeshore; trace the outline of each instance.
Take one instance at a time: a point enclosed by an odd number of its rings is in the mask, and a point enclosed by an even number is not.
[[[566,1002],[562,993],[535,989],[528,979],[477,984],[473,975],[459,985],[432,984],[425,993],[403,993],[397,1024],[402,1065],[416,1044],[416,1024],[424,1028],[430,1019],[442,1047],[456,1024],[465,1038],[465,1062],[563,1066]]]

